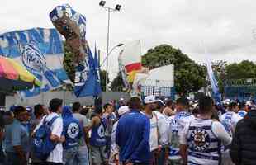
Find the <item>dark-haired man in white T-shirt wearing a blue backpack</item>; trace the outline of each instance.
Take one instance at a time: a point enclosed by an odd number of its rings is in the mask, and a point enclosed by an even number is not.
[[[62,143],[65,141],[64,137],[61,136],[63,132],[63,120],[60,117],[62,112],[62,100],[59,98],[54,98],[50,101],[50,114],[45,115],[45,117],[40,120],[40,124],[36,126],[34,133],[37,129],[40,128],[40,125],[43,124],[44,120],[50,121],[55,116],[58,118],[50,126],[51,135],[50,139],[54,142],[57,142],[55,149],[50,153],[50,156],[46,159],[45,165],[61,165],[63,164],[63,146]]]

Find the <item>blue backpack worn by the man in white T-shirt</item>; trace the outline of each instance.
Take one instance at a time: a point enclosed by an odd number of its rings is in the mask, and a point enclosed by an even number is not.
[[[58,116],[53,117],[50,121],[46,121],[46,117],[43,124],[36,130],[32,141],[32,148],[35,156],[42,161],[45,161],[50,156],[50,152],[55,149],[57,144],[50,140],[50,126],[55,122]]]

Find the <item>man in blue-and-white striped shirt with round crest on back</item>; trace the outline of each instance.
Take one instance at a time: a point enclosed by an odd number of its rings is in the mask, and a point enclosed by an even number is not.
[[[231,143],[224,126],[217,120],[211,120],[213,108],[211,97],[201,97],[199,114],[181,131],[179,142],[183,164],[218,165],[221,143],[225,146]]]

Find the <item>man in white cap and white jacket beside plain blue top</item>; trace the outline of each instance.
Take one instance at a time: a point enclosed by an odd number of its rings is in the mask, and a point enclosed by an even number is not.
[[[168,123],[164,115],[156,110],[158,100],[155,96],[145,97],[145,111],[143,113],[149,117],[150,120],[150,152],[153,154],[152,163],[159,164],[159,156],[163,149],[168,153],[169,138],[171,132],[168,131]],[[160,160],[164,165],[165,160]],[[160,165],[160,164],[159,164]]]

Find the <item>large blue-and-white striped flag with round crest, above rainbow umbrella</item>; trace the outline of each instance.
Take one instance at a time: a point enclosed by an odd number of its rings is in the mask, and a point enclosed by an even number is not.
[[[42,82],[42,87],[22,91],[34,97],[70,82],[63,68],[63,40],[55,29],[33,28],[0,35],[0,54],[15,59]]]

